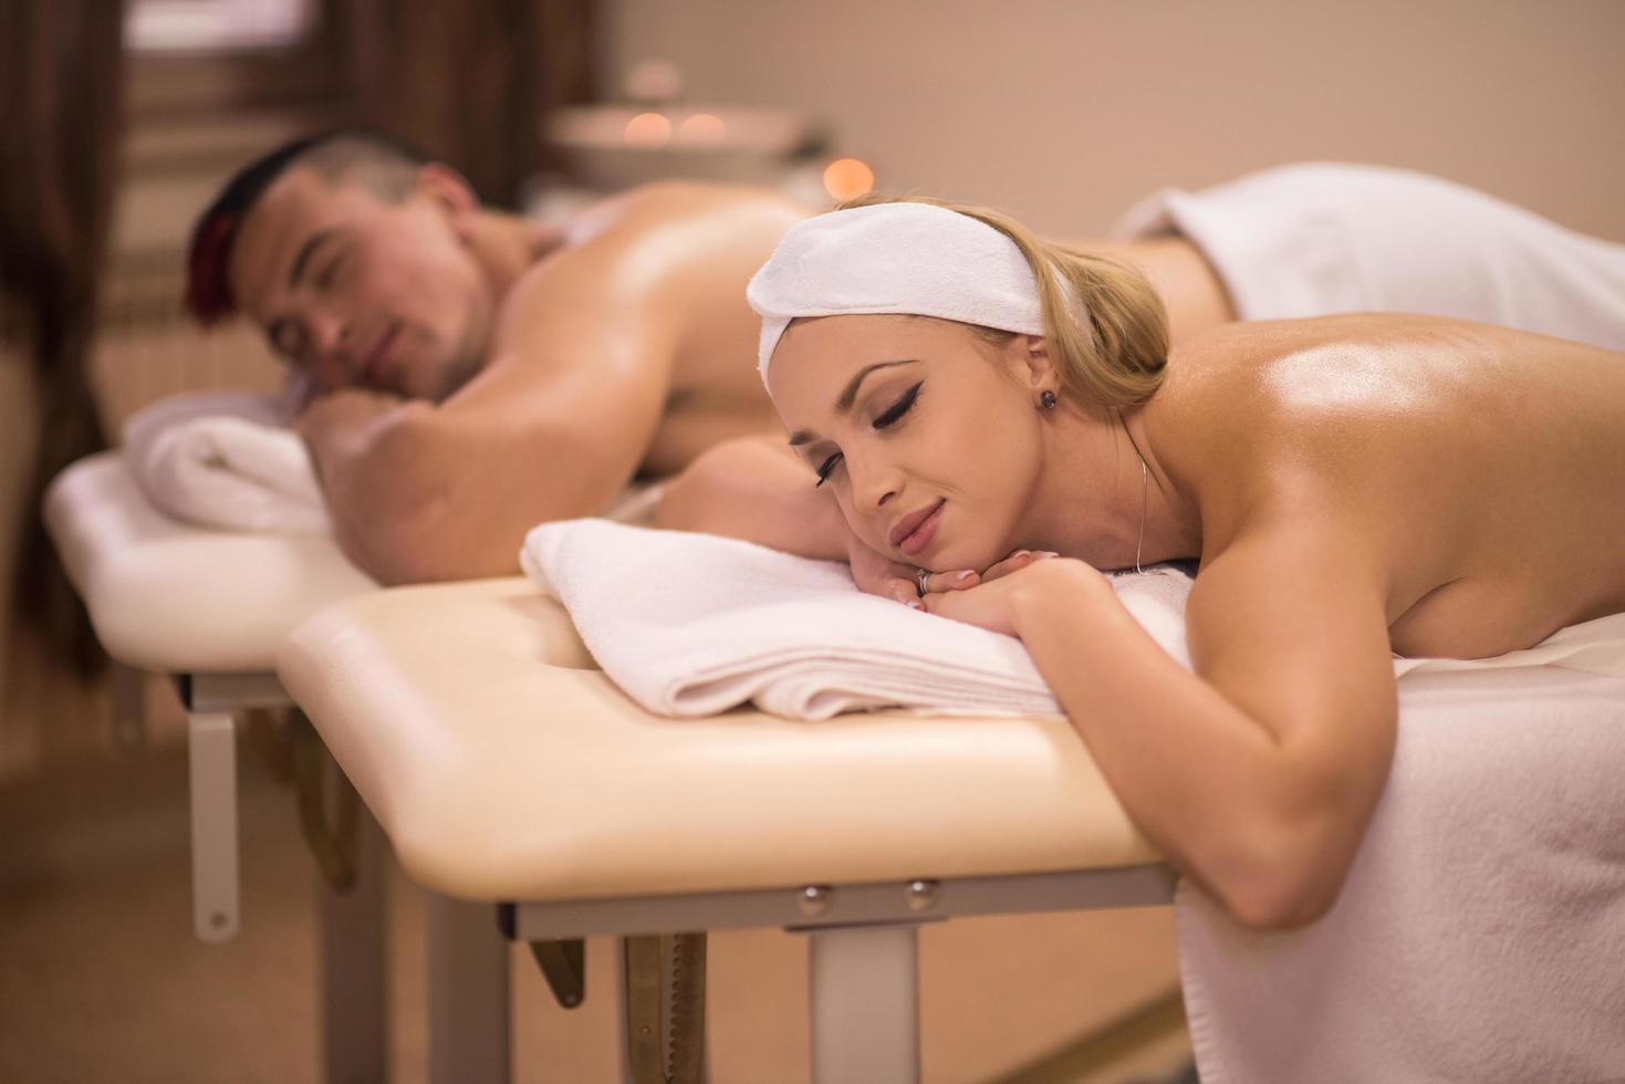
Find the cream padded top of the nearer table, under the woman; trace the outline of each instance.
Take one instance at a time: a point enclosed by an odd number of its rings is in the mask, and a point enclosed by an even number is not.
[[[1159,861],[1064,720],[650,715],[523,579],[332,606],[278,655],[406,873],[580,900]]]

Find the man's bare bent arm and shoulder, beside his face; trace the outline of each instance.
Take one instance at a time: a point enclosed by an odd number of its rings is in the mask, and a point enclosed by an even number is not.
[[[385,583],[504,575],[525,531],[601,512],[660,424],[678,325],[655,289],[538,268],[447,401],[343,390],[301,421],[340,546]]]

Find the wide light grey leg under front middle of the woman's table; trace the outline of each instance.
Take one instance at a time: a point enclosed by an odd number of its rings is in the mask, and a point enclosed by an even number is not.
[[[809,931],[812,1084],[916,1084],[915,923]]]

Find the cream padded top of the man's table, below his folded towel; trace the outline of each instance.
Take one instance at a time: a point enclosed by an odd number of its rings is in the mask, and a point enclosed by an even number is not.
[[[159,673],[270,671],[288,632],[377,583],[327,536],[245,535],[169,518],[117,452],[46,494],[46,525],[107,653]]]

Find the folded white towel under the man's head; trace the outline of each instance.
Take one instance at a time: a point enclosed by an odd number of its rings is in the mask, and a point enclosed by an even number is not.
[[[278,397],[179,395],[130,418],[124,453],[141,492],[188,523],[323,535],[332,520]]]

